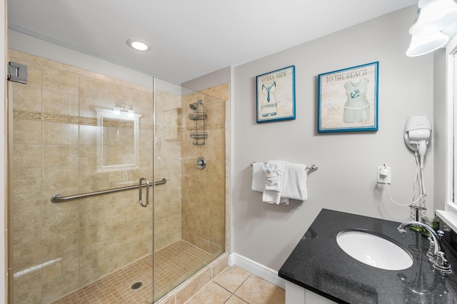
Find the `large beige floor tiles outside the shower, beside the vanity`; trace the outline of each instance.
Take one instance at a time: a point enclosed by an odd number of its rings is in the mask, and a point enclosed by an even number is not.
[[[186,304],[284,304],[282,288],[259,278],[243,268],[226,268]]]

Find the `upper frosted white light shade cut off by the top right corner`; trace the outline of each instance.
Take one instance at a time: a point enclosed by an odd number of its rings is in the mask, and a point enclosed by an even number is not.
[[[428,35],[442,31],[457,20],[457,4],[453,0],[419,0],[418,18],[409,33]]]

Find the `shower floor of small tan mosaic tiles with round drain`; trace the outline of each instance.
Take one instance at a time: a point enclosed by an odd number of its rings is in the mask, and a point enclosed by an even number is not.
[[[176,285],[189,278],[209,263],[213,255],[179,240],[156,253],[156,293],[158,299]],[[152,256],[148,255],[135,263],[116,270],[94,283],[54,301],[54,304],[104,304],[104,303],[151,303]],[[133,290],[134,283],[143,283]]]

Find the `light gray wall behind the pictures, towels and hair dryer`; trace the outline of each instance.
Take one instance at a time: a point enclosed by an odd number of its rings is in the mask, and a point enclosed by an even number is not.
[[[411,6],[234,69],[234,252],[278,270],[321,208],[393,221],[409,217],[409,208],[389,201],[384,186],[376,183],[376,167],[392,167],[392,196],[408,203],[416,163],[403,141],[403,126],[408,116],[436,119],[433,54],[405,55],[415,15]],[[379,130],[318,134],[318,74],[373,61],[379,61]],[[296,120],[257,124],[256,76],[291,65],[296,66]],[[424,168],[429,216],[433,144]],[[308,201],[271,206],[251,191],[249,165],[270,159],[318,165],[308,174]]]

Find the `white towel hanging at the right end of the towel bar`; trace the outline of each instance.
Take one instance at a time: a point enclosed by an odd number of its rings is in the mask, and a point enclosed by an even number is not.
[[[284,163],[281,196],[298,201],[307,200],[307,179],[308,171],[306,171],[306,165],[301,163]]]

